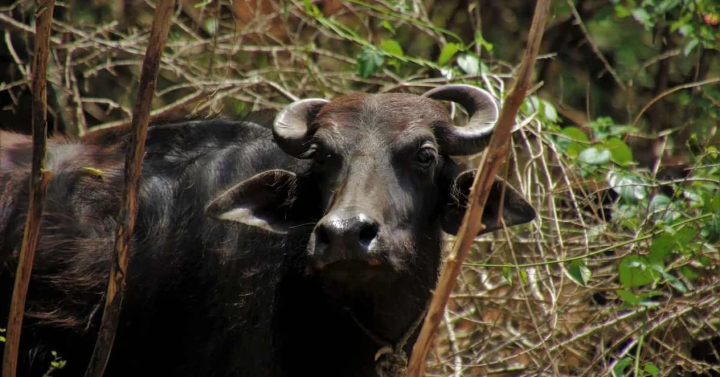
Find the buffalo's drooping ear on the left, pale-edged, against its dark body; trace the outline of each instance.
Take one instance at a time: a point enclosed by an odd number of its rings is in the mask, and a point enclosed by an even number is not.
[[[281,169],[256,174],[210,201],[205,213],[277,234],[307,231],[317,221],[312,215],[317,212],[313,203],[318,202],[303,198],[303,180]]]

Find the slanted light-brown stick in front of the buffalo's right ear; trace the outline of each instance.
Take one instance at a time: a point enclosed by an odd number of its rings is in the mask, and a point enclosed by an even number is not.
[[[505,99],[503,110],[495,126],[495,132],[490,138],[490,145],[482,154],[480,167],[475,174],[475,179],[468,197],[467,210],[462,225],[456,236],[453,249],[446,259],[445,265],[438,280],[438,285],[430,303],[430,309],[420,329],[418,341],[413,347],[413,354],[408,364],[408,376],[420,377],[425,375],[425,360],[430,350],[435,331],[443,319],[445,306],[450,297],[454,282],[462,267],[462,262],[467,257],[475,236],[482,229],[482,210],[485,208],[487,196],[490,194],[490,187],[495,181],[495,174],[498,173],[500,164],[508,154],[508,141],[510,141],[510,130],[515,124],[515,118],[520,105],[525,99],[528,87],[530,87],[533,66],[540,49],[540,41],[545,28],[545,20],[550,7],[550,0],[538,0],[535,7],[533,22],[528,35],[527,50],[523,56],[518,78],[513,90]]]

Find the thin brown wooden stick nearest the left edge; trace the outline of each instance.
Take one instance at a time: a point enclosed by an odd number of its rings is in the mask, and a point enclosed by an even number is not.
[[[45,151],[48,145],[48,56],[50,56],[50,25],[53,23],[55,0],[39,1],[35,11],[35,58],[32,60],[32,171],[30,172],[30,200],[22,235],[22,247],[12,291],[7,337],[3,355],[2,375],[15,377],[20,332],[30,283],[35,247],[40,236],[40,220],[45,207],[45,189],[53,176],[45,170]]]

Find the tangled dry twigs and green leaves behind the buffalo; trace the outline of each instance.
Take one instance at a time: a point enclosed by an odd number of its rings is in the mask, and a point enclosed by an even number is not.
[[[51,135],[129,123],[153,8],[56,3]],[[153,116],[240,117],[446,82],[502,99],[533,10],[179,0]],[[0,128],[22,133],[34,12],[35,1],[0,0]],[[555,0],[551,15],[503,169],[540,217],[477,241],[429,373],[720,376],[720,2]],[[57,356],[50,370],[73,362]]]

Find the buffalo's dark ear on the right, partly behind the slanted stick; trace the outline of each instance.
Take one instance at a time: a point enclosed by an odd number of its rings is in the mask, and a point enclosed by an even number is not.
[[[450,195],[446,197],[446,203],[444,203],[441,214],[443,230],[449,234],[457,234],[460,228],[467,208],[467,196],[470,194],[470,187],[472,187],[474,178],[475,170],[469,170],[459,174],[454,179],[451,187],[449,187],[448,192]],[[477,234],[478,236],[502,229],[503,224],[498,219],[498,212],[500,211],[503,186],[505,187],[505,198],[503,200],[505,226],[529,223],[535,219],[535,208],[523,198],[523,195],[500,177],[495,177],[495,182],[492,183],[490,189],[490,196],[488,196],[485,204],[485,210],[482,211],[482,223],[485,224],[485,229],[480,231],[480,234]]]

